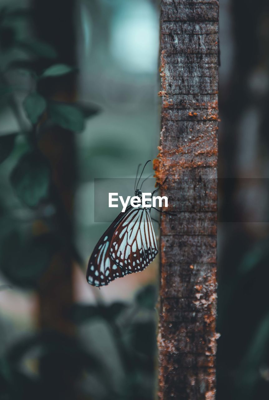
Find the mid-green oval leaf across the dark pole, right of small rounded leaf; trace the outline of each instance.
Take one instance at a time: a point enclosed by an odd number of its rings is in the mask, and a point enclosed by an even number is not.
[[[83,113],[76,106],[63,103],[49,104],[49,117],[64,129],[80,132],[84,129]]]

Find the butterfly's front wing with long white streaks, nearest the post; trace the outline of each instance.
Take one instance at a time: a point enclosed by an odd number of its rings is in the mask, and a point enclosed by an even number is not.
[[[130,209],[112,236],[111,258],[131,273],[144,270],[157,253],[157,240],[148,209]]]

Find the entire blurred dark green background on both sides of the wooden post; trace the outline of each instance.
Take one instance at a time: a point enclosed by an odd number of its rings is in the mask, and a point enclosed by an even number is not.
[[[0,399],[156,397],[158,260],[101,290],[85,271],[94,179],[158,154],[158,46],[155,0],[0,1]],[[267,2],[221,1],[220,60],[217,398],[263,400]]]

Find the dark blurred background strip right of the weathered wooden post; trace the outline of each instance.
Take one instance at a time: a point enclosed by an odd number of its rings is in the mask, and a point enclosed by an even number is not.
[[[220,2],[219,399],[269,397],[269,4]]]

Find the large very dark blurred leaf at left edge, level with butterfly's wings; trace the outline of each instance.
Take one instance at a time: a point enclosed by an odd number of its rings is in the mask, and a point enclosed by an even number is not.
[[[56,250],[57,240],[50,234],[27,238],[13,231],[2,241],[1,271],[13,284],[36,287]]]

